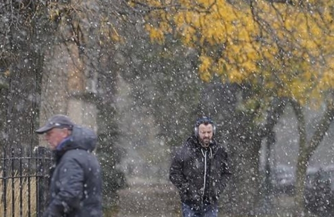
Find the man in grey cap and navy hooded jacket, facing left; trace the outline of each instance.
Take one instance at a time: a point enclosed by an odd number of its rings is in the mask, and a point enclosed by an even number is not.
[[[54,152],[50,200],[44,217],[101,217],[101,169],[92,151],[97,137],[57,114],[36,130]]]

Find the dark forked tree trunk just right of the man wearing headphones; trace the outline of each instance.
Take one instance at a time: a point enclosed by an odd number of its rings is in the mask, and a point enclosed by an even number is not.
[[[209,85],[204,90],[201,111],[216,117],[222,140],[228,141],[232,179],[223,196],[223,207],[228,212],[254,215],[261,211],[263,195],[259,179],[259,159],[262,139],[268,137],[284,112],[285,99],[277,98],[268,108],[265,124],[254,126],[255,116],[238,112],[238,89],[235,85]]]

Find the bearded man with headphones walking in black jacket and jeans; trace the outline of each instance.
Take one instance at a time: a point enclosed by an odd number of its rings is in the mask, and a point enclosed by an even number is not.
[[[183,217],[217,217],[218,199],[230,176],[225,149],[214,140],[215,123],[199,118],[194,134],[175,153],[170,180],[179,190]]]

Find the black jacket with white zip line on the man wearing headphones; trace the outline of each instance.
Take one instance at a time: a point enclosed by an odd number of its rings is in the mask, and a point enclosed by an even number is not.
[[[170,167],[170,180],[177,187],[181,201],[198,209],[203,204],[204,187],[204,148],[195,136],[189,137],[185,144],[175,153]],[[207,149],[207,160],[210,160],[210,177],[205,189],[208,188],[208,200],[217,202],[224,190],[231,173],[225,149],[213,141]],[[208,169],[208,168],[207,168]]]

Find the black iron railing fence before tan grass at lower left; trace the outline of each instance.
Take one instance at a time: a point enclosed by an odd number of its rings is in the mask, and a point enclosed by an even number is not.
[[[0,216],[42,216],[52,163],[49,149],[4,151],[0,163]]]

